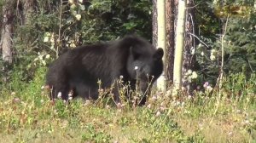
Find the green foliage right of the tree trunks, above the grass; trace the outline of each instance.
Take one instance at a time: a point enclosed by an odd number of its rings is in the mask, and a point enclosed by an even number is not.
[[[205,46],[201,43],[196,49],[196,60],[200,66],[198,72],[201,75],[201,83],[206,81],[212,84],[216,83],[222,60],[222,46],[224,46],[225,75],[242,72],[248,79],[256,71],[256,13],[255,9],[253,9],[254,3],[253,1],[245,2],[239,0],[236,2],[225,1],[225,3],[214,2],[217,3],[197,2],[199,3],[198,8],[201,9],[196,12],[198,15],[197,20],[201,21],[199,23],[201,40],[207,44]],[[207,3],[208,7],[204,3]],[[228,6],[230,10],[222,11],[225,14],[221,16],[211,12],[218,8],[221,11],[224,6]],[[239,10],[243,13],[240,14]],[[237,13],[235,14],[235,12]],[[224,34],[226,22],[224,43],[222,43],[221,37]]]

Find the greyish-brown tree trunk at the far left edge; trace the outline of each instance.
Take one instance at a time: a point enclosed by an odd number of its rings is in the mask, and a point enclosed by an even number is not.
[[[12,34],[13,34],[13,21],[14,21],[14,5],[13,0],[6,0],[3,5],[3,25],[1,37],[1,49],[3,52],[3,61],[12,63]]]

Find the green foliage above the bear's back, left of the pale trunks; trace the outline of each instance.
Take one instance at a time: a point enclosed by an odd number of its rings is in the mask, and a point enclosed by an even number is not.
[[[59,54],[81,44],[133,32],[151,38],[151,4],[147,0],[40,1],[36,7],[26,24],[23,17],[18,19],[22,9],[15,9],[15,66],[6,70],[19,72],[16,77],[26,82],[32,80],[37,68],[48,66]],[[1,72],[8,79],[1,78],[1,83],[13,80],[10,73]]]

